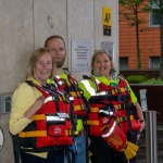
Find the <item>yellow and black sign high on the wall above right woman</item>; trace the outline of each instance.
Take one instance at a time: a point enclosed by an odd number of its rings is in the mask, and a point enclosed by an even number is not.
[[[104,36],[111,36],[111,9],[108,7],[103,8],[102,11],[102,24],[103,24],[103,35]]]

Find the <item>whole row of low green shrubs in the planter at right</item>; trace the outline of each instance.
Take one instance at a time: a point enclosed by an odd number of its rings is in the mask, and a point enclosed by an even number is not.
[[[128,84],[150,84],[150,85],[159,85],[163,84],[163,80],[160,78],[148,78],[147,76],[142,75],[130,75],[126,77]]]

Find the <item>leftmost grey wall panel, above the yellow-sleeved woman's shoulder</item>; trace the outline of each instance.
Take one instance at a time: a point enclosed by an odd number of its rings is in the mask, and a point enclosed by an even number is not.
[[[0,93],[11,92],[25,78],[34,50],[33,0],[1,0]]]

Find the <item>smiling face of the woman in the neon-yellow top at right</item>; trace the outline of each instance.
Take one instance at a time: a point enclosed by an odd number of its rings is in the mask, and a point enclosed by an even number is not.
[[[110,72],[112,68],[112,63],[108,54],[99,53],[92,64],[92,70],[97,72],[100,76],[110,77]]]

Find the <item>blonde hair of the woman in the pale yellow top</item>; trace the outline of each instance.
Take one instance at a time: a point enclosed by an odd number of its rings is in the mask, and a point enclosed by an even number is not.
[[[47,48],[38,48],[34,51],[34,53],[30,55],[29,58],[29,62],[28,62],[28,71],[27,71],[27,75],[34,77],[34,68],[36,66],[36,63],[39,61],[39,59],[46,53],[48,52],[50,54],[50,52],[48,51]],[[54,58],[50,54],[51,59],[52,59],[52,72],[50,75],[50,78],[52,78],[54,76],[54,72],[55,72],[55,62],[54,62]]]

